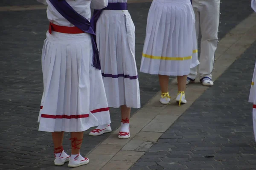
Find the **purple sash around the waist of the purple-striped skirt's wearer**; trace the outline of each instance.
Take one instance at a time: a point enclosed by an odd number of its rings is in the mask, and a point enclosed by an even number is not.
[[[106,8],[100,9],[100,10],[94,10],[93,11],[93,17],[90,20],[90,23],[93,27],[93,31],[96,31],[96,23],[99,19],[100,14],[102,13],[102,10],[127,10],[128,5],[127,3],[108,3],[108,6]]]

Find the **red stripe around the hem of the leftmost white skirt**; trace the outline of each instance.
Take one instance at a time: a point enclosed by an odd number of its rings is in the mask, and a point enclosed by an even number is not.
[[[43,106],[40,106],[40,109],[43,109]],[[91,111],[91,113],[98,113],[103,111],[109,111],[109,108],[100,108]],[[79,119],[79,118],[87,118],[89,114],[80,114],[80,115],[50,115],[50,114],[41,114],[43,118],[49,119]]]

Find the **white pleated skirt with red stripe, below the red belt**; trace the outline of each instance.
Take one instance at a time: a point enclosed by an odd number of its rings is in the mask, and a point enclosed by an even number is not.
[[[92,67],[92,60],[89,34],[47,32],[40,131],[81,132],[111,122],[101,71]]]

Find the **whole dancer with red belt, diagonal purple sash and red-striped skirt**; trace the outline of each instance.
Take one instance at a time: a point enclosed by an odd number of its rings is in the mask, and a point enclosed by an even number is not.
[[[69,161],[69,167],[78,167],[89,163],[79,153],[84,130],[111,122],[99,54],[89,22],[90,3],[99,9],[108,2],[38,1],[48,5],[50,21],[42,50],[44,94],[38,116],[39,130],[52,132],[55,165]],[[71,135],[71,156],[62,147],[64,132]]]

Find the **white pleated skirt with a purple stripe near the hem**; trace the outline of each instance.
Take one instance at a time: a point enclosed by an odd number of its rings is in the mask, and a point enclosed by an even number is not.
[[[109,107],[140,108],[135,26],[129,12],[103,10],[96,37]]]

